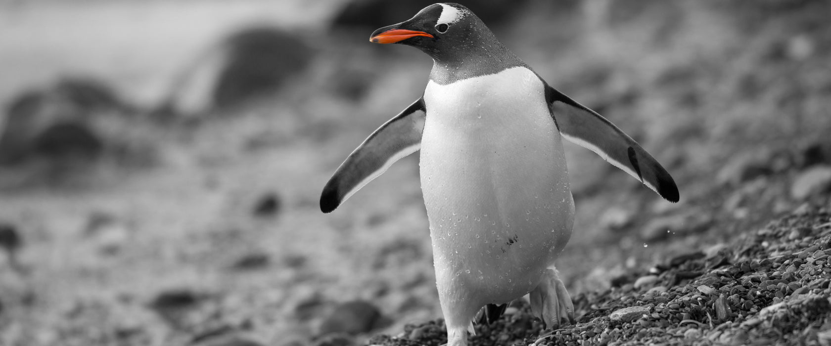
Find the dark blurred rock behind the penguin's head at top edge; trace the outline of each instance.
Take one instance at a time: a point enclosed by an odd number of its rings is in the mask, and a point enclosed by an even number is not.
[[[404,22],[415,16],[422,8],[434,4],[431,0],[404,0],[388,2],[383,0],[351,0],[332,20],[335,27],[364,27],[374,30],[397,22]],[[519,12],[528,0],[470,0],[465,7],[488,26],[508,22],[514,13]],[[573,8],[575,2],[563,2],[562,7]]]

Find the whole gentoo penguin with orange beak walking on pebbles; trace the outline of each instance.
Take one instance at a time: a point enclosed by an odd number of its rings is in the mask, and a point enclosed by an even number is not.
[[[593,150],[671,202],[669,173],[632,138],[540,78],[467,7],[437,3],[370,41],[433,58],[418,100],[381,125],[323,188],[332,212],[398,159],[420,149],[420,180],[448,344],[466,345],[472,319],[529,294],[555,329],[573,305],[554,269],[574,203],[562,138]],[[489,309],[491,311],[498,309]]]

